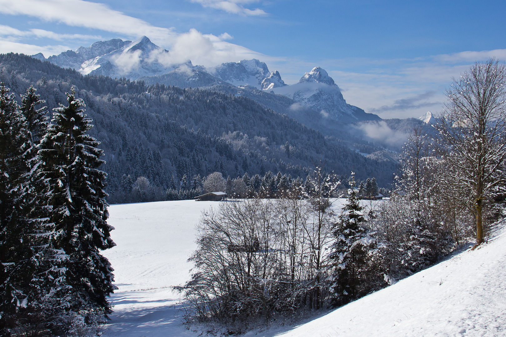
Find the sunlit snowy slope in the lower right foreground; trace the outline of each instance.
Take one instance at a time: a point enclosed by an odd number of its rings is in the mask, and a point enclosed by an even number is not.
[[[246,334],[249,336],[250,334]],[[489,243],[276,337],[506,336],[506,223]]]

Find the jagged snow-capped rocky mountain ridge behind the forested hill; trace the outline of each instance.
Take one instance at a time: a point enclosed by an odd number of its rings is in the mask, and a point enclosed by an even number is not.
[[[42,54],[32,57],[43,60]],[[281,94],[293,102],[293,109],[303,106],[313,111],[314,117],[323,117],[342,123],[381,120],[377,115],[347,104],[341,89],[332,77],[315,67],[305,73],[299,83],[287,85],[278,71],[271,72],[265,62],[257,59],[222,63],[215,67],[194,66],[188,60],[172,64],[171,54],[143,36],[136,41],[112,39],[98,41],[90,47],[79,47],[47,59],[64,68],[74,68],[81,74],[126,77],[143,80],[147,84],[165,84],[179,87],[240,87],[244,90],[266,90]],[[255,100],[256,95],[250,94]],[[298,105],[297,105],[298,104]],[[273,107],[266,106],[273,109]]]

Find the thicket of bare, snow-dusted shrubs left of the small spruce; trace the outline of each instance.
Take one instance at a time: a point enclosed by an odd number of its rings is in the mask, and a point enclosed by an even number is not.
[[[203,214],[188,321],[226,324],[320,309],[328,299],[325,249],[333,213],[325,198],[247,199]]]

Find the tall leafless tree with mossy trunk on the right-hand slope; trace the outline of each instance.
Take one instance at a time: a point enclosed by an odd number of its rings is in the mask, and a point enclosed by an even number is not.
[[[483,204],[506,181],[506,68],[496,60],[477,62],[447,90],[448,103],[436,125],[447,174],[470,196],[476,246],[483,242]]]

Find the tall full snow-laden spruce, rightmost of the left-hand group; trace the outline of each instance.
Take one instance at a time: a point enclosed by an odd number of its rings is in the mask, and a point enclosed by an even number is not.
[[[66,95],[68,106],[54,109],[40,141],[40,172],[49,181],[46,205],[53,246],[60,252],[58,267],[65,270],[67,309],[92,323],[94,317],[111,312],[107,297],[114,289],[113,269],[100,251],[115,244],[110,237],[113,227],[106,222],[106,173],[97,169],[104,163],[100,143],[87,134],[93,125],[84,114],[83,101],[75,98],[73,88]]]

